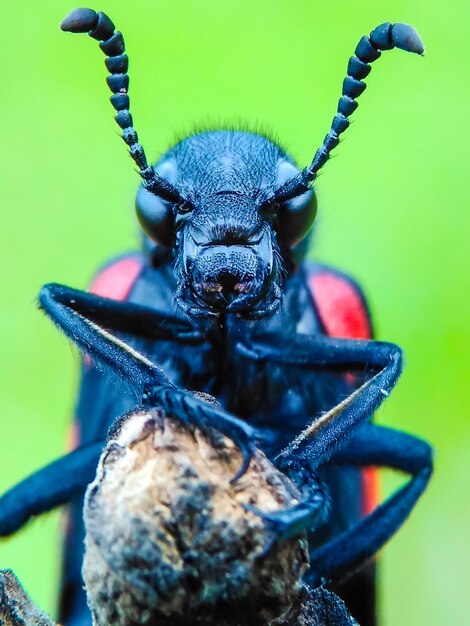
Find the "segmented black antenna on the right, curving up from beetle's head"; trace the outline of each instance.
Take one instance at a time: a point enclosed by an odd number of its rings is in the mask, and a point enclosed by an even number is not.
[[[392,50],[393,48],[400,48],[406,52],[420,55],[424,54],[423,42],[415,29],[408,24],[386,22],[374,28],[368,37],[364,35],[357,44],[354,56],[349,59],[337,114],[333,118],[330,131],[323,140],[322,146],[316,151],[310,165],[284,183],[275,192],[272,201],[286,202],[309,189],[320,168],[328,161],[330,152],[338,145],[339,136],[349,126],[349,116],[358,107],[356,99],[367,87],[362,79],[366,78],[372,69],[369,64],[380,57],[382,50]]]

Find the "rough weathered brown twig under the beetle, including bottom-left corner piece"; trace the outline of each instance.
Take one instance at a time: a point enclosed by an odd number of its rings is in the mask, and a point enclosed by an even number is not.
[[[298,501],[257,451],[242,479],[240,452],[214,431],[158,410],[122,418],[88,487],[83,575],[94,626],[354,626],[344,603],[307,590],[305,536],[272,543],[245,508]],[[55,626],[0,572],[0,624]]]

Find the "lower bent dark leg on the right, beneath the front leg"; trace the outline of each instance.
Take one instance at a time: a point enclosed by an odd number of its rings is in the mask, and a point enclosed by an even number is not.
[[[416,437],[373,424],[334,457],[335,463],[390,467],[411,480],[350,529],[311,553],[311,584],[341,579],[370,559],[403,524],[432,473],[432,449]]]

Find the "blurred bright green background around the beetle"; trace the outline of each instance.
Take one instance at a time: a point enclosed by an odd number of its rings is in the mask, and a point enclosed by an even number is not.
[[[71,0],[2,7],[0,489],[61,454],[78,356],[36,310],[42,283],[85,287],[137,245],[137,176],[117,137],[103,55],[57,24]],[[470,5],[449,0],[134,0],[94,6],[124,31],[136,127],[151,158],[195,126],[241,120],[306,164],[334,114],[347,59],[383,21],[416,26],[424,59],[375,65],[352,128],[318,181],[312,258],[364,286],[404,376],[379,421],[432,442],[436,471],[383,551],[383,624],[468,619]],[[390,477],[385,485],[394,484]],[[53,611],[60,516],[0,543]],[[463,599],[462,599],[463,596]]]

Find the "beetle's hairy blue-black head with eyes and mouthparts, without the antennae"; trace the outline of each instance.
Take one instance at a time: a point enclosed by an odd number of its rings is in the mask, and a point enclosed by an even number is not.
[[[184,200],[165,201],[141,187],[137,215],[149,237],[174,250],[177,302],[198,316],[273,312],[283,252],[305,237],[316,212],[311,190],[270,202],[298,173],[285,152],[260,135],[212,131],[184,139],[155,169]]]

